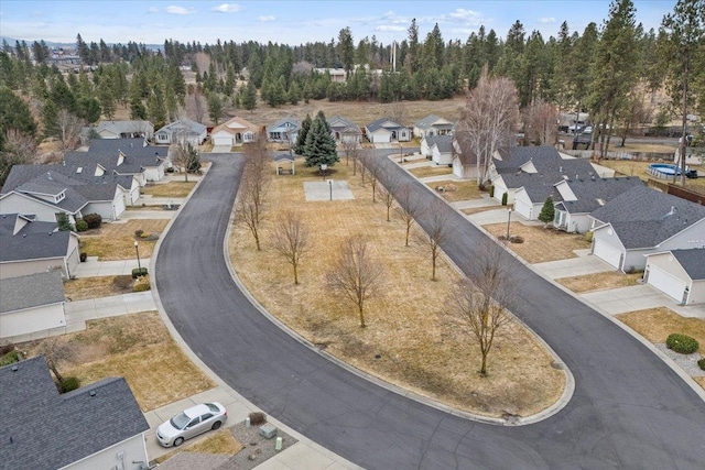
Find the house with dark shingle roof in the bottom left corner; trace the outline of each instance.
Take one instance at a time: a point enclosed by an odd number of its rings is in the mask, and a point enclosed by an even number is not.
[[[3,468],[149,468],[150,429],[123,378],[59,394],[43,356],[0,368]]]

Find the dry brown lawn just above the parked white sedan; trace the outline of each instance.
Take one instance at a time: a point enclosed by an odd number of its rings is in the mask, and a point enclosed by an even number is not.
[[[215,386],[182,352],[156,311],[88,321],[85,331],[59,340],[74,351],[59,363],[64,376],[76,376],[82,384],[124,376],[143,412]],[[40,342],[19,348],[34,356]]]

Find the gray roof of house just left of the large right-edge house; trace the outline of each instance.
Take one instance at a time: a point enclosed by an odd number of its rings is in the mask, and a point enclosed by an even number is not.
[[[577,200],[564,200],[561,203],[563,209],[568,214],[589,214],[632,187],[643,186],[643,183],[638,177],[627,176],[623,178],[573,179],[567,182],[567,185]]]

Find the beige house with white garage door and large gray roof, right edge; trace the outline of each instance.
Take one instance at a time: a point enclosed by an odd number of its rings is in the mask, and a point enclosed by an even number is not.
[[[705,247],[705,207],[636,186],[590,214],[592,253],[620,271],[643,270],[647,254]]]

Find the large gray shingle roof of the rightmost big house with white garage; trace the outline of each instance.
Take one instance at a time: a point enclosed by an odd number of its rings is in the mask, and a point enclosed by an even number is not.
[[[590,217],[611,223],[625,248],[651,248],[705,218],[705,207],[636,186],[594,210]]]

